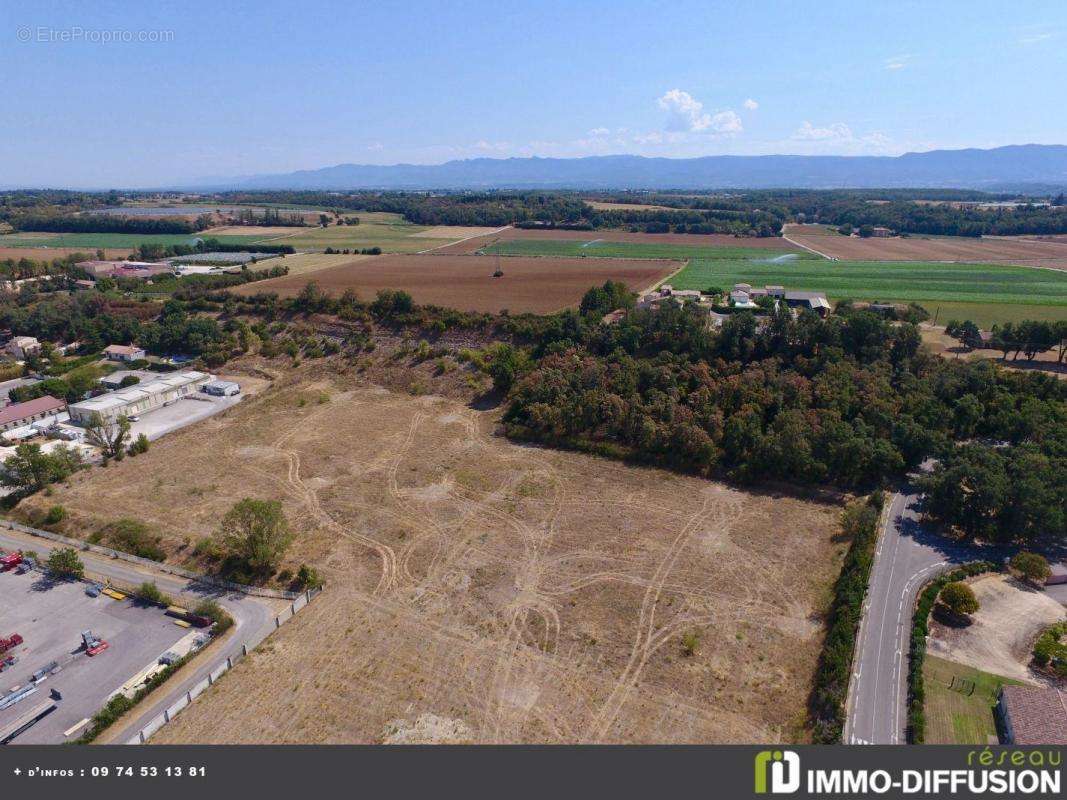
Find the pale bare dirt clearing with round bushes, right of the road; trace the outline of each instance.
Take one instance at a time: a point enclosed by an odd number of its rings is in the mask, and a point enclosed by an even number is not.
[[[1014,578],[988,575],[971,582],[978,610],[967,627],[934,619],[928,652],[958,663],[1018,681],[1041,678],[1028,666],[1041,630],[1064,619],[1064,607]]]

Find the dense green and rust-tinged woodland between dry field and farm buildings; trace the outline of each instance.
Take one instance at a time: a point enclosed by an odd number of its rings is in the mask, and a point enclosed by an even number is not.
[[[512,435],[702,475],[840,486],[941,455],[938,505],[951,524],[968,507],[949,502],[950,489],[970,497],[961,486],[977,448],[994,497],[970,512],[983,524],[969,530],[1065,532],[1067,386],[929,355],[910,323],[782,311],[762,326],[735,315],[713,333],[698,310],[668,306],[612,325],[563,315],[534,341],[536,367],[515,383],[505,416]],[[1006,446],[954,445],[975,437]]]

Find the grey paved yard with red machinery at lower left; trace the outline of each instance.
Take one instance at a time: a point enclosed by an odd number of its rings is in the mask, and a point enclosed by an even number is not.
[[[190,631],[174,624],[157,606],[90,597],[86,583],[54,582],[39,572],[0,573],[0,637],[20,634],[25,643],[11,653],[18,662],[0,673],[0,697],[51,661],[61,669],[43,681],[37,691],[0,710],[0,727],[13,722],[58,690],[57,709],[12,743],[45,745],[67,741],[64,731],[98,711],[115,691],[170,650]],[[81,633],[92,630],[109,643],[95,656],[82,651]],[[77,738],[75,732],[69,738]]]

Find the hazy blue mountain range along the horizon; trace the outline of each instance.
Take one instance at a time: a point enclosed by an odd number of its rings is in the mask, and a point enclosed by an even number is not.
[[[444,164],[337,164],[283,175],[206,179],[195,189],[876,189],[1040,193],[1067,187],[1067,145],[930,150],[903,156],[476,158]]]

